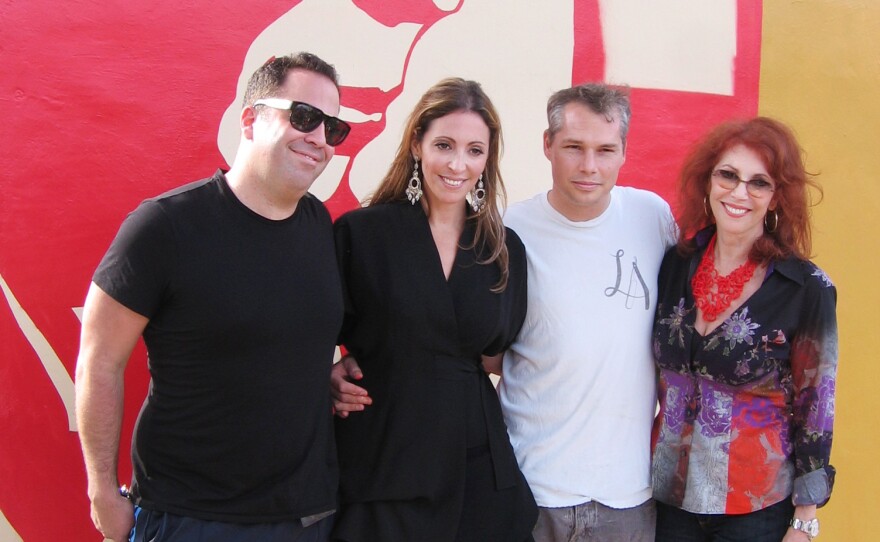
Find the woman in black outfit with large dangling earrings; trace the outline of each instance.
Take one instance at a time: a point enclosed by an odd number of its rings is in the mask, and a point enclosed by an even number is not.
[[[537,508],[484,357],[526,312],[522,242],[501,223],[501,127],[480,85],[445,79],[419,100],[367,207],[336,222],[346,315],[340,344],[369,390],[337,420],[334,540],[531,539]],[[348,360],[346,360],[348,361]],[[344,402],[344,401],[343,401]]]

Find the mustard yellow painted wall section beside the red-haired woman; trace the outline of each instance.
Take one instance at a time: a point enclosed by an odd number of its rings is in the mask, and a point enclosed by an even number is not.
[[[759,111],[820,175],[813,251],[838,288],[838,477],[819,540],[880,540],[880,2],[765,0],[763,26]]]

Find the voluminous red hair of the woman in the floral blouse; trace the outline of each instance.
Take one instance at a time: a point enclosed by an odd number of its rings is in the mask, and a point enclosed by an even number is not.
[[[679,175],[678,213],[681,254],[696,250],[694,234],[711,225],[705,198],[709,194],[712,171],[721,155],[736,145],[743,145],[761,157],[767,173],[776,183],[777,226],[764,228],[749,257],[761,263],[788,256],[810,257],[810,194],[814,188],[821,197],[822,188],[804,168],[803,152],[794,133],[785,124],[767,117],[725,122],[701,139],[685,158]]]

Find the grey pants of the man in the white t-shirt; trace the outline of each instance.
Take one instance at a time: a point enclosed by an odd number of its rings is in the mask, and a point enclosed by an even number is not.
[[[596,501],[539,508],[535,542],[653,542],[655,518],[651,499],[622,509]]]

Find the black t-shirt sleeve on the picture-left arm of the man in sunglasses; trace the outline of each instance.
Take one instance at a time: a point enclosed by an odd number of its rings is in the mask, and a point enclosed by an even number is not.
[[[166,295],[175,249],[161,206],[145,201],[123,221],[92,281],[122,305],[152,318]]]

